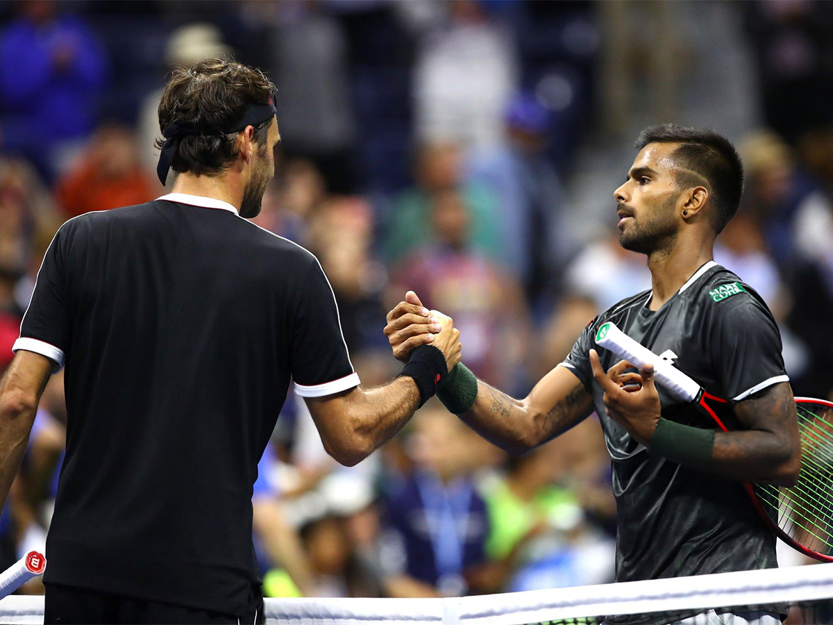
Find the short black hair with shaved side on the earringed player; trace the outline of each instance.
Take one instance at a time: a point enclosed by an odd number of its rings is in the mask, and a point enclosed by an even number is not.
[[[671,157],[689,172],[677,173],[677,184],[686,188],[704,179],[715,204],[712,225],[721,233],[741,205],[743,164],[729,139],[711,128],[686,128],[666,123],[645,128],[636,138],[636,149],[649,143],[680,143]]]

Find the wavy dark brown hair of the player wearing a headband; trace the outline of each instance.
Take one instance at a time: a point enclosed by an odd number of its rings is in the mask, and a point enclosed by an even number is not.
[[[256,67],[221,58],[207,58],[192,67],[177,67],[159,102],[159,128],[185,122],[204,128],[205,135],[183,137],[172,169],[177,173],[208,175],[230,168],[237,155],[237,133],[222,134],[247,107],[266,104],[275,85]],[[255,127],[254,143],[265,149],[272,119]],[[161,149],[164,138],[157,138]]]

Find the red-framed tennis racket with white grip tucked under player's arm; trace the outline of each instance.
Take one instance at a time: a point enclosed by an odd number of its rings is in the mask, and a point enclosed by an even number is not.
[[[654,366],[658,383],[683,402],[695,402],[728,432],[724,419],[726,399],[718,398],[662,360],[650,349],[627,336],[616,324],[604,323],[596,343],[619,358],[641,367]],[[823,562],[833,562],[833,403],[823,399],[796,398],[801,434],[801,473],[791,487],[744,483],[758,515],[791,547]]]

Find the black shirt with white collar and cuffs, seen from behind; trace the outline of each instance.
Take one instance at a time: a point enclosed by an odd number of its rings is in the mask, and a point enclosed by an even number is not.
[[[52,240],[15,349],[66,363],[44,582],[244,610],[290,378],[303,397],[359,383],[317,259],[212,198],[87,213]]]

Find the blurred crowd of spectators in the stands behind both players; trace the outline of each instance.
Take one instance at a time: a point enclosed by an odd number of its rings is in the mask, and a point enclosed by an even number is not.
[[[382,328],[413,289],[455,319],[478,377],[524,396],[596,313],[650,288],[645,259],[616,238],[612,192],[631,161],[593,180],[611,192],[601,210],[571,205],[566,188],[583,149],[631,141],[631,92],[651,94],[651,121],[686,121],[673,115],[696,99],[684,88],[696,49],[665,31],[630,37],[625,22],[667,26],[671,4],[0,2],[0,370],[57,227],[165,193],[152,144],[169,68],[233,56],[278,87],[277,174],[254,221],[317,254],[362,383],[401,366]],[[732,137],[746,193],[716,260],[776,315],[796,395],[830,397],[833,5],[727,10],[754,70],[758,129]],[[42,547],[65,418],[58,375],[0,517],[0,567]],[[616,505],[596,418],[512,459],[428,403],[347,469],[290,396],[252,502],[271,596],[613,576]]]

